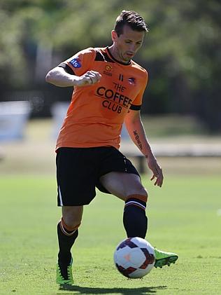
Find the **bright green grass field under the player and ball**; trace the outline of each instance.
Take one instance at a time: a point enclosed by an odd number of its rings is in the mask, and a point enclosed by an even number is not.
[[[145,177],[143,177],[144,179]],[[129,280],[113,265],[113,251],[125,238],[123,203],[98,193],[85,207],[73,248],[75,286],[55,284],[57,260],[54,177],[2,176],[0,294],[221,294],[220,177],[168,177],[149,191],[147,240],[179,254],[170,267]]]

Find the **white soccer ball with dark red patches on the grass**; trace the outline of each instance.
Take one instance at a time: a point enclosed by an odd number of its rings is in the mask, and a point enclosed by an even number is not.
[[[113,260],[125,277],[141,278],[155,265],[155,249],[142,238],[127,238],[117,245]]]

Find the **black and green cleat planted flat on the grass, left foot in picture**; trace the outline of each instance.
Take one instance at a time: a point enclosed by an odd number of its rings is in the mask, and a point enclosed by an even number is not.
[[[60,263],[57,263],[57,284],[73,284],[72,263],[72,257],[69,265],[64,266]]]

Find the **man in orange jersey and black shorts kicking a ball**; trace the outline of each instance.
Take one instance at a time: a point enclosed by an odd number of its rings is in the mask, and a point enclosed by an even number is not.
[[[46,81],[56,86],[74,87],[56,146],[57,203],[62,206],[57,225],[58,284],[73,284],[71,247],[78,237],[83,206],[95,197],[95,187],[124,201],[127,237],[145,238],[148,193],[136,168],[118,149],[125,123],[152,170],[151,180],[162,186],[162,169],[140,116],[148,73],[132,60],[146,32],[141,15],[122,11],[112,31],[112,46],[82,50],[46,76]],[[169,266],[178,259],[177,254],[157,249],[155,256],[155,267]]]

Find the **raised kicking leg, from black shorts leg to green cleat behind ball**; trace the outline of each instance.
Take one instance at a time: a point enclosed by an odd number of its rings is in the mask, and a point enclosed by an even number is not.
[[[134,165],[120,151],[109,149],[107,155],[97,187],[100,191],[112,193],[124,200],[124,227],[127,236],[144,238],[148,226],[145,217],[148,194],[141,184],[141,178]],[[155,267],[162,267],[175,263],[178,255],[155,248],[155,258]]]

